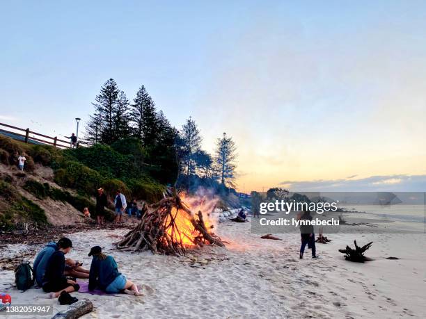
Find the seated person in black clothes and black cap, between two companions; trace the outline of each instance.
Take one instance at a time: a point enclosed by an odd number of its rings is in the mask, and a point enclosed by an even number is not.
[[[65,277],[65,254],[72,248],[71,240],[63,238],[58,243],[58,250],[52,254],[47,262],[45,276],[43,277],[42,288],[46,293],[51,293],[50,297],[57,298],[63,291],[71,293],[79,291],[79,284],[76,281]]]

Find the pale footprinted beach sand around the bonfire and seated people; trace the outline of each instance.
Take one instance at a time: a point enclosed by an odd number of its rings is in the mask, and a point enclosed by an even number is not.
[[[70,234],[75,247],[70,257],[89,266],[88,250],[99,244],[113,254],[120,272],[152,292],[145,290],[144,297],[73,293],[95,305],[84,318],[426,317],[425,234],[333,234],[331,243],[317,244],[321,259],[310,259],[307,250],[306,259],[299,260],[298,234],[277,234],[283,241],[262,240],[251,234],[249,222],[219,224],[219,235],[230,242],[226,250],[206,247],[184,258],[117,252],[111,243],[123,233]],[[366,254],[374,261],[343,259],[338,249],[352,245],[353,239],[359,245],[374,241]],[[13,304],[52,303],[41,299],[45,293],[40,289],[5,291],[13,276],[12,271],[0,272],[0,282],[6,284],[1,290],[12,295]],[[55,311],[66,308],[53,304]]]

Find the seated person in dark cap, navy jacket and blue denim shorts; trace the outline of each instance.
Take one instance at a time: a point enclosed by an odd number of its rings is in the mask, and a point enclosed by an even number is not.
[[[90,265],[89,291],[100,288],[107,293],[124,292],[129,295],[141,295],[138,287],[118,272],[118,266],[112,256],[102,253],[100,246],[90,249],[88,256],[93,256]]]

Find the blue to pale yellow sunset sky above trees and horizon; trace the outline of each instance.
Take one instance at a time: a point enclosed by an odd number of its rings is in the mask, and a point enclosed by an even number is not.
[[[0,122],[69,136],[113,78],[241,191],[426,190],[425,1],[0,0],[0,36]]]

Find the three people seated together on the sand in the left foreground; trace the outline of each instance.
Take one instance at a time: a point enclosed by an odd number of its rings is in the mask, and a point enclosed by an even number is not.
[[[62,304],[72,304],[77,298],[70,293],[79,291],[78,279],[88,279],[88,290],[100,289],[106,293],[127,293],[141,295],[138,287],[125,275],[118,272],[118,265],[113,256],[102,252],[102,247],[94,246],[88,252],[92,257],[90,270],[82,263],[65,258],[72,250],[70,238],[63,237],[57,243],[48,243],[36,256],[33,265],[34,278],[49,297],[60,297]]]

